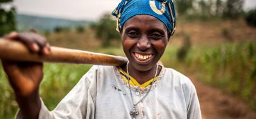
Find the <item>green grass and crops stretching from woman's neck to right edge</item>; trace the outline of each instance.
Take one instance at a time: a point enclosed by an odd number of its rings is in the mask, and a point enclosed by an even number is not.
[[[256,111],[256,42],[222,42],[214,47],[193,46],[180,61],[173,46],[161,61],[206,84],[218,87],[227,94],[240,97]]]

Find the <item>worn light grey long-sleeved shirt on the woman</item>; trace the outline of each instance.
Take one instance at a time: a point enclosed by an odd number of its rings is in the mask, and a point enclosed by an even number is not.
[[[134,103],[148,87],[131,85]],[[53,118],[132,118],[132,99],[127,82],[115,66],[93,66],[56,106],[49,111],[42,101],[40,119]],[[138,104],[141,118],[200,119],[201,111],[195,86],[188,77],[171,68],[164,68],[153,83],[148,96]],[[22,118],[18,112],[16,118]]]

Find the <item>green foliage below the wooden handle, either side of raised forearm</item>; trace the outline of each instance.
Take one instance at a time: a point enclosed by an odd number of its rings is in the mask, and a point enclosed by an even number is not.
[[[90,65],[44,65],[40,94],[49,110],[54,109],[90,67]],[[13,118],[18,104],[1,65],[0,69],[0,118]]]

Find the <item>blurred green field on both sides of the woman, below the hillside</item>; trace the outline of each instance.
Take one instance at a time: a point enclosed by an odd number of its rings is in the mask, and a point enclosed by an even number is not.
[[[123,55],[121,47],[98,49],[101,53]],[[185,75],[233,94],[256,110],[256,42],[222,42],[212,47],[192,46],[186,58],[177,58],[179,47],[170,44],[161,61]],[[45,64],[41,96],[49,110],[74,87],[90,65]],[[12,118],[18,108],[13,91],[0,70],[0,118]]]

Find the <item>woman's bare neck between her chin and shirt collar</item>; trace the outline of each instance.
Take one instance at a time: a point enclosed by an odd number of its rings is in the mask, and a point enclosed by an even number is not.
[[[121,68],[122,68],[122,70],[127,72],[126,66],[123,66]],[[153,68],[151,68],[150,70],[147,70],[147,71],[136,70],[130,64],[129,64],[128,68],[129,68],[129,75],[131,75],[133,78],[135,78],[139,84],[144,84],[145,82],[148,82],[148,80],[151,80],[152,78],[154,78],[157,68],[158,68],[157,75],[159,75],[159,73],[161,71],[161,66],[157,67],[157,65],[155,65]]]

